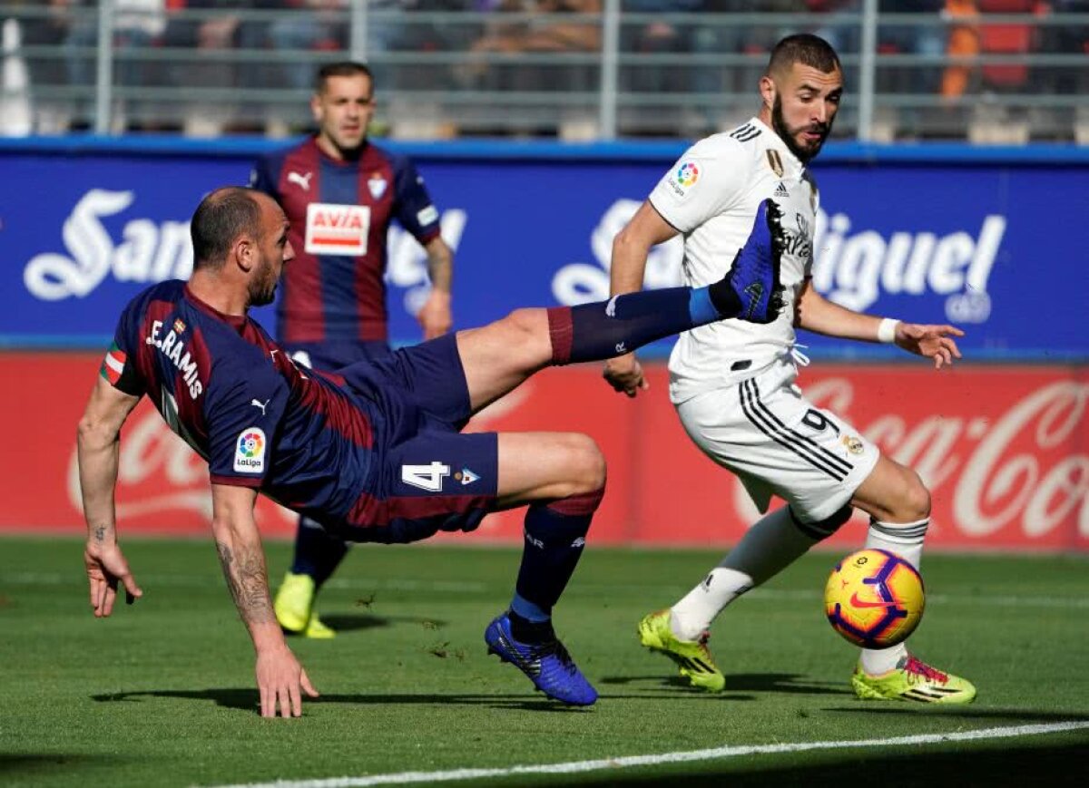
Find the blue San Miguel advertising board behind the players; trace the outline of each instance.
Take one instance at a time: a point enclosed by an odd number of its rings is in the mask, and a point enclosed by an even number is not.
[[[246,183],[250,164],[238,155],[0,155],[0,343],[107,342],[139,288],[188,275],[189,216],[211,188]],[[456,250],[456,324],[607,297],[613,237],[671,164],[417,158]],[[1073,230],[1089,216],[1089,168],[818,159],[812,171],[821,197],[815,283],[830,298],[956,323],[977,359],[1089,356],[1082,310],[1061,290],[1085,281]],[[648,287],[680,281],[681,247],[674,239],[651,254]],[[394,227],[389,251],[392,338],[413,343],[428,286],[424,250]],[[270,309],[260,319],[274,331]],[[892,357],[889,348],[803,342],[818,356]]]

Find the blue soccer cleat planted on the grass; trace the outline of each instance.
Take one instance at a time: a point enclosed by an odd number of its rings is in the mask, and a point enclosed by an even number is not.
[[[517,641],[511,633],[511,617],[503,613],[488,625],[484,640],[489,654],[517,667],[549,698],[575,706],[588,706],[598,699],[597,690],[554,637],[540,643]]]

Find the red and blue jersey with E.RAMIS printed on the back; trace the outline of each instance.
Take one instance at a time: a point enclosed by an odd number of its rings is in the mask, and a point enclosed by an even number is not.
[[[218,312],[184,282],[154,285],[125,307],[102,374],[147,394],[208,461],[213,484],[255,488],[337,524],[377,482],[380,397],[299,369],[257,322]]]

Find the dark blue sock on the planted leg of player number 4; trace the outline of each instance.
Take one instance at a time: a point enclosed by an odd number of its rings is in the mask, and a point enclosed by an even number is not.
[[[604,489],[551,503],[530,504],[526,510],[522,566],[511,611],[526,621],[543,624],[552,617],[586,545],[590,520]]]

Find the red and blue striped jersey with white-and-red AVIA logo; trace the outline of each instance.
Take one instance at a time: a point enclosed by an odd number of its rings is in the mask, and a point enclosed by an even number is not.
[[[386,342],[387,234],[396,219],[428,244],[439,211],[413,163],[365,143],[338,161],[311,137],[262,157],[250,175],[283,208],[295,259],[277,301],[282,342]]]

